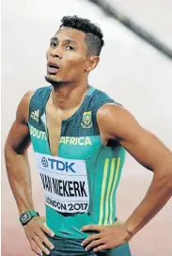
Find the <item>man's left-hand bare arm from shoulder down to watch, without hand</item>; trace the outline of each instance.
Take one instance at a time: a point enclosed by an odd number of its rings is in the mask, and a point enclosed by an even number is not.
[[[33,92],[29,91],[23,96],[5,146],[8,181],[20,214],[23,211],[34,210],[30,168],[27,158],[27,149],[30,145],[27,121],[32,94]]]

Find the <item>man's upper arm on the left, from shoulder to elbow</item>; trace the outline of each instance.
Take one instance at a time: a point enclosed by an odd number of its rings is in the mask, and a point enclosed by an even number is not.
[[[33,91],[24,94],[22,101],[18,105],[16,119],[14,120],[8,138],[5,150],[12,149],[15,152],[23,153],[30,145],[30,136],[28,129],[29,104]]]

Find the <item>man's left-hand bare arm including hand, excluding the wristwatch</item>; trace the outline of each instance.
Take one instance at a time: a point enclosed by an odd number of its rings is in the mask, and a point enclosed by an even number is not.
[[[20,214],[24,211],[35,210],[32,200],[30,168],[27,158],[27,149],[30,145],[27,123],[32,94],[33,92],[29,91],[23,96],[17,109],[16,120],[9,131],[5,146],[8,181]],[[23,227],[32,250],[38,255],[42,255],[42,251],[49,255],[49,249],[45,248],[42,242],[48,248],[54,248],[45,233],[51,236],[54,236],[55,233],[45,225],[45,218],[34,216]]]

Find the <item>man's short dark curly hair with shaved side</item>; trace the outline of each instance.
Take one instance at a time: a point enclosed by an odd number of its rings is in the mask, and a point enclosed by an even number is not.
[[[81,30],[86,33],[87,54],[100,56],[102,46],[104,45],[102,30],[99,25],[91,23],[87,19],[74,16],[64,16],[60,27],[66,26]]]

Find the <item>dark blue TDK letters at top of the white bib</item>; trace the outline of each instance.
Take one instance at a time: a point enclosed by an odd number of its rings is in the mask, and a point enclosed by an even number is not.
[[[48,161],[53,169],[75,172],[73,169],[74,163],[69,164],[68,162],[62,162],[51,158],[48,158]]]

